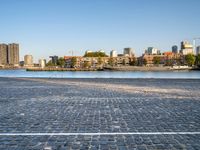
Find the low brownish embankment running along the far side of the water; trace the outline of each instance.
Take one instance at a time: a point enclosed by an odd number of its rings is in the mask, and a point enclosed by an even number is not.
[[[138,66],[123,66],[123,67],[103,67],[103,68],[27,68],[26,71],[181,71],[181,70],[200,70],[199,68],[188,66],[174,66],[174,67],[138,67]]]

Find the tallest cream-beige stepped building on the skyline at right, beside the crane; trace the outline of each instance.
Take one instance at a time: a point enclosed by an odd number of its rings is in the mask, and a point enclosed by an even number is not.
[[[194,52],[193,52],[193,45],[190,44],[188,41],[181,42],[180,53],[183,54],[183,55],[194,54]]]

